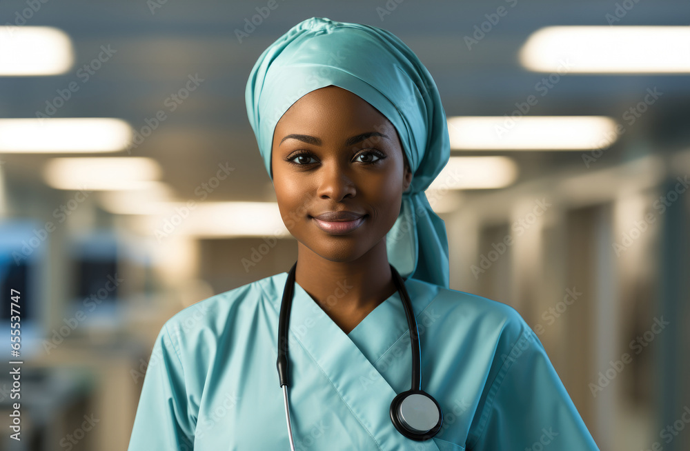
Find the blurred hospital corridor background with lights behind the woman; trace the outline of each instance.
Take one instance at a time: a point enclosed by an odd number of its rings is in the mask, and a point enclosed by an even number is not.
[[[3,1],[0,325],[23,363],[0,449],[126,449],[163,323],[290,268],[244,90],[313,16],[386,28],[433,75],[451,288],[522,314],[602,450],[689,450],[680,0]]]

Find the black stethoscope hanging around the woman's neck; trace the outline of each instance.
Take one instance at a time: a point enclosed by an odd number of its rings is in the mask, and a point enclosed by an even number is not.
[[[388,264],[390,265],[390,263]],[[290,269],[283,290],[283,301],[280,305],[278,320],[278,360],[276,363],[280,386],[283,388],[290,449],[293,451],[295,451],[295,443],[293,430],[290,426],[290,408],[288,407],[288,323],[295,289],[295,268],[297,268],[297,262]],[[393,421],[395,429],[408,439],[428,440],[441,429],[443,412],[431,394],[422,390],[422,350],[420,348],[420,334],[417,330],[417,319],[413,314],[412,302],[407,294],[404,281],[397,270],[393,268],[393,265],[391,265],[391,272],[393,273],[393,282],[400,293],[405,308],[412,343],[412,388],[393,398],[390,410],[391,421]]]

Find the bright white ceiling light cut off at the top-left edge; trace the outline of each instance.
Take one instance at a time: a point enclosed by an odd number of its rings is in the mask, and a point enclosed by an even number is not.
[[[74,60],[72,41],[62,30],[0,26],[0,76],[64,74]]]

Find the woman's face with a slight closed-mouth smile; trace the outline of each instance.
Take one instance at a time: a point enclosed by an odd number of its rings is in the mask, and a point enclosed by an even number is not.
[[[337,86],[309,92],[283,114],[273,134],[271,166],[290,234],[330,261],[352,261],[380,243],[412,181],[393,124]],[[342,211],[362,216],[351,223],[359,224],[354,230],[324,230],[314,218]]]

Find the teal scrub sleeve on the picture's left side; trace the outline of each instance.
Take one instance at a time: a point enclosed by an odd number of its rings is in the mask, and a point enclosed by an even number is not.
[[[184,370],[167,324],[146,368],[128,451],[194,449],[195,419],[187,414]]]

